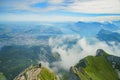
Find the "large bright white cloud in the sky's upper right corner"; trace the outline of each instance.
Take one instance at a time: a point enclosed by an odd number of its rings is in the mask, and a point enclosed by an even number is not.
[[[76,0],[65,10],[82,13],[120,14],[120,0]]]

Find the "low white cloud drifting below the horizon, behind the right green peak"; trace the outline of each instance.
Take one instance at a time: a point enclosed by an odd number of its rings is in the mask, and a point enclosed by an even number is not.
[[[97,39],[92,39],[91,41],[86,38],[81,38],[79,35],[64,35],[49,39],[49,45],[52,47],[52,51],[59,53],[61,56],[61,61],[53,63],[54,66],[66,70],[69,70],[80,59],[88,55],[96,55],[97,49],[103,49],[109,54],[120,56],[120,44],[115,45],[114,42],[110,44],[111,46]]]

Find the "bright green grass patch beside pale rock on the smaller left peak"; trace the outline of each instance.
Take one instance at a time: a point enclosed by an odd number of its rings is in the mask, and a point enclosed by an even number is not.
[[[38,78],[40,80],[58,80],[57,76],[46,68],[43,68],[41,70],[40,74],[38,75]]]

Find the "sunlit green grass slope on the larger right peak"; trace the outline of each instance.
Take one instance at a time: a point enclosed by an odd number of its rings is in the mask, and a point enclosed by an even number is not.
[[[118,80],[117,73],[111,64],[106,60],[105,56],[88,56],[87,67],[79,71],[74,67],[74,72],[81,80]]]

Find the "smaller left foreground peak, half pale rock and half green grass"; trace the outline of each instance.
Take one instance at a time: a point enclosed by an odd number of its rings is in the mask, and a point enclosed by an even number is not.
[[[59,80],[58,77],[45,67],[30,66],[14,80]]]

